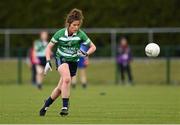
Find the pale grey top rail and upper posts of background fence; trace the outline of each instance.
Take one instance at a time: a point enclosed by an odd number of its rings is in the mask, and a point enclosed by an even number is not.
[[[0,34],[4,35],[4,57],[10,57],[11,39],[13,34],[39,34],[40,31],[47,30],[54,33],[57,29],[0,29]],[[116,48],[117,34],[148,34],[147,42],[154,41],[155,33],[180,33],[180,27],[176,28],[85,28],[87,33],[93,34],[110,34],[110,52],[111,57],[115,56],[114,48]]]

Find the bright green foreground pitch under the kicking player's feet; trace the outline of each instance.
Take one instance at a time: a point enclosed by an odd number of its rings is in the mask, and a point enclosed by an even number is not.
[[[90,85],[72,90],[70,115],[59,116],[60,98],[45,117],[38,111],[54,86],[0,86],[0,123],[180,123],[180,88]]]

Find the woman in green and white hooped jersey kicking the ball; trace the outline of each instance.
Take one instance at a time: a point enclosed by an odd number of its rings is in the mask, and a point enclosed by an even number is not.
[[[54,46],[56,49],[56,66],[60,74],[60,80],[50,97],[45,101],[40,110],[40,116],[45,116],[48,107],[61,95],[62,109],[61,116],[68,115],[70,87],[72,77],[76,75],[77,62],[80,57],[87,57],[94,53],[96,46],[87,35],[80,29],[83,22],[83,14],[79,9],[73,9],[66,17],[65,28],[57,31],[46,48],[46,66],[44,73],[52,70],[50,57]],[[80,44],[89,47],[85,52],[80,49]]]

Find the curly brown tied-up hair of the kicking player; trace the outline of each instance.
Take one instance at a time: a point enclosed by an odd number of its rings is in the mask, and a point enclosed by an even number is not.
[[[74,8],[67,15],[65,26],[68,27],[73,21],[77,21],[77,20],[80,21],[80,24],[82,24],[83,19],[84,17],[83,17],[82,11]]]

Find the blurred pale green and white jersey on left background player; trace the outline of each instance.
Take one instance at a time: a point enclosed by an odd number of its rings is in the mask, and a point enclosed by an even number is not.
[[[36,51],[36,56],[37,57],[45,57],[45,49],[47,46],[48,42],[47,41],[41,41],[41,40],[36,40],[34,42],[34,48]]]

